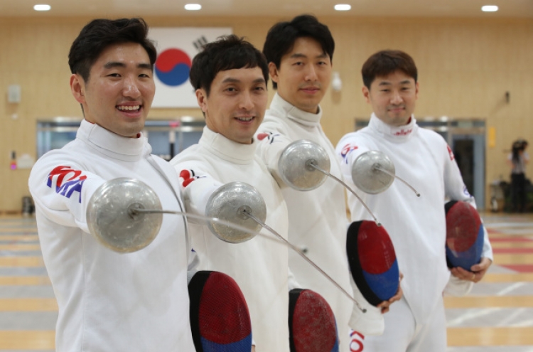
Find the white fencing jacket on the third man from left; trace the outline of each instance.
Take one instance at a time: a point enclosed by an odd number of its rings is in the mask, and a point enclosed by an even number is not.
[[[330,157],[330,173],[341,178],[335,149],[325,136],[320,121],[322,110],[311,114],[274,95],[270,109],[256,135],[257,154],[278,180],[289,209],[289,240],[306,250],[306,255],[328,273],[346,291],[351,292],[346,256],[348,219],[345,191],[340,183],[327,178],[313,191],[296,191],[279,178],[278,160],[281,151],[291,142],[307,139],[322,146]],[[318,171],[317,171],[318,172]],[[348,351],[348,320],[352,301],[296,252],[289,252],[289,266],[301,287],[321,294],[330,304],[337,320],[340,351]]]

